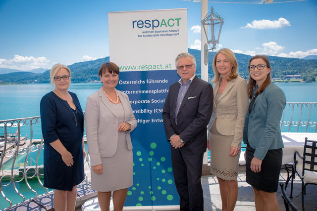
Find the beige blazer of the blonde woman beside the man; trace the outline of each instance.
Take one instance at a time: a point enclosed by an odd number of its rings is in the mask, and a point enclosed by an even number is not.
[[[213,97],[218,92],[219,82],[220,80],[213,84]],[[213,100],[213,109],[208,130],[211,130],[215,119],[217,119],[217,131],[222,135],[234,135],[231,146],[240,148],[248,103],[249,97],[246,80],[239,76],[232,79],[219,97],[217,105]]]

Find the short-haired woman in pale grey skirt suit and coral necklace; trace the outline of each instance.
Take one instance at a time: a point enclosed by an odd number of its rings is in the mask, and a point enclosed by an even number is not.
[[[119,68],[112,62],[99,69],[103,86],[87,98],[86,134],[91,159],[91,185],[98,191],[102,211],[109,211],[111,191],[114,210],[123,209],[133,184],[130,131],[137,127],[128,95],[115,89]]]

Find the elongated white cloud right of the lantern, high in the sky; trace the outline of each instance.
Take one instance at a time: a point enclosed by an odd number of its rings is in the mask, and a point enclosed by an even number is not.
[[[246,26],[241,27],[242,29],[250,28],[250,29],[278,29],[290,26],[288,20],[285,18],[279,18],[278,20],[254,20],[251,23],[248,23]]]

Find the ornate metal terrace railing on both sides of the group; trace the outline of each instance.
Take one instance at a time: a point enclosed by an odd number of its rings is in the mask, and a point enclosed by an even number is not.
[[[7,194],[3,190],[3,187],[12,184],[17,197],[21,197],[23,202],[28,200],[17,188],[17,183],[25,181],[30,191],[35,194],[36,199],[39,194],[29,184],[29,180],[36,178],[40,184],[42,190],[48,193],[49,190],[43,186],[41,178],[43,177],[43,165],[39,165],[39,158],[41,151],[44,149],[43,137],[40,139],[33,139],[33,131],[36,127],[40,130],[41,117],[30,117],[12,120],[0,121],[0,193],[2,198],[8,202],[8,208],[12,207],[12,199],[7,198]],[[317,130],[317,103],[287,103],[283,111],[283,115],[280,122],[280,128],[284,132],[316,132]],[[17,127],[15,134],[8,133],[8,129],[12,130],[13,127]],[[21,136],[21,127],[29,127],[27,133],[29,136]],[[39,131],[37,131],[39,133]],[[29,139],[27,138],[29,137]],[[26,144],[27,146],[23,145]],[[28,157],[31,152],[37,152],[35,166],[28,166]],[[16,163],[19,156],[25,156],[24,163]],[[85,162],[88,162],[89,157],[86,157]],[[31,163],[31,162],[30,162]],[[43,163],[43,162],[40,162]],[[23,164],[22,166],[19,164]],[[88,162],[90,168],[90,163]],[[20,168],[18,168],[20,167]],[[89,188],[87,175],[86,186]]]

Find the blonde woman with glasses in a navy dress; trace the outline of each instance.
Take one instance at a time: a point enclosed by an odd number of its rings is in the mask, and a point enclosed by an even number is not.
[[[73,211],[77,185],[84,180],[84,115],[77,95],[68,91],[69,68],[56,64],[50,75],[55,89],[43,96],[40,105],[44,187],[54,189],[55,211]]]

